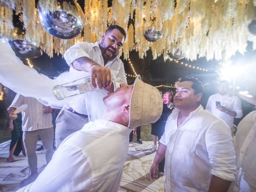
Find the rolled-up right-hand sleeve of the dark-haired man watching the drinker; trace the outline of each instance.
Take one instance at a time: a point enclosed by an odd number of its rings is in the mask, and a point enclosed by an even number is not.
[[[206,148],[211,174],[224,180],[233,181],[236,175],[236,156],[230,128],[218,122],[206,132]]]

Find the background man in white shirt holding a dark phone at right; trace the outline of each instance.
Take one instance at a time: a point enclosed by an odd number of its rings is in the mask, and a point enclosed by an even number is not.
[[[234,117],[243,116],[241,100],[237,96],[230,96],[228,81],[220,81],[218,93],[209,97],[206,110],[224,120],[232,133],[234,132]]]

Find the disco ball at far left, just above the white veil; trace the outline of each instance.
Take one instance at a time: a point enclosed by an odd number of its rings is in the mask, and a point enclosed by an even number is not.
[[[14,36],[8,40],[16,56],[21,59],[32,59],[42,55],[40,46],[25,39],[25,32],[21,28],[14,28]]]

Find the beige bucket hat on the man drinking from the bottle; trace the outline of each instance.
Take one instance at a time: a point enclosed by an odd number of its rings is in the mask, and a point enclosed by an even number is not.
[[[163,102],[159,90],[144,83],[138,75],[133,84],[128,128],[156,122],[162,110]]]

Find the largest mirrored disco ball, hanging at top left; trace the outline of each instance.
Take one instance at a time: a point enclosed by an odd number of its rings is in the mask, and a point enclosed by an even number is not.
[[[44,28],[61,39],[71,39],[84,28],[84,12],[77,2],[72,0],[52,0],[55,7],[51,10],[42,8],[44,0],[39,0],[38,18]]]

